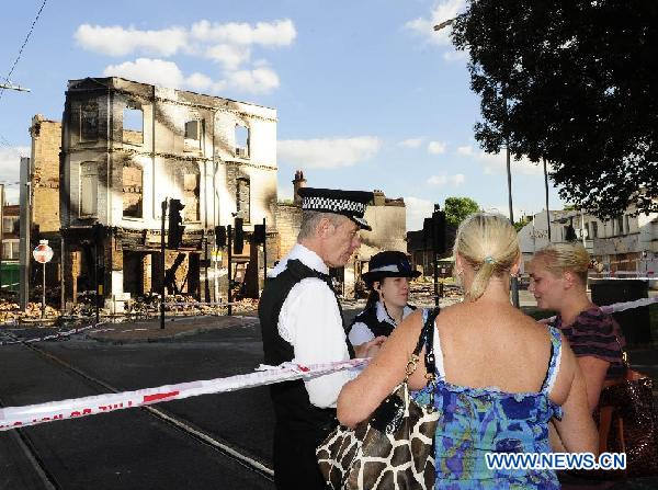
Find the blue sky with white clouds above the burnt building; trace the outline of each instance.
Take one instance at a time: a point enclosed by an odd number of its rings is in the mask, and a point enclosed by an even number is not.
[[[1,77],[42,2],[4,7]],[[61,118],[67,80],[116,75],[275,107],[280,198],[303,169],[308,185],[404,197],[408,229],[447,196],[507,213],[504,157],[473,138],[479,106],[466,58],[432,31],[461,9],[462,0],[48,0],[11,77],[32,92],[0,99],[0,182],[18,202],[31,118]],[[512,174],[515,216],[542,209],[541,168],[513,162]]]

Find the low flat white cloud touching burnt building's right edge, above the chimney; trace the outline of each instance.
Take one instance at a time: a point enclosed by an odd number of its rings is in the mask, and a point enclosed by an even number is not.
[[[351,167],[374,157],[382,146],[374,136],[288,139],[277,143],[279,159],[315,169]]]

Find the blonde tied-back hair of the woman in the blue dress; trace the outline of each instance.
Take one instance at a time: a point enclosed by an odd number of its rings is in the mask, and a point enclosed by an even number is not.
[[[466,292],[472,300],[485,293],[492,275],[509,273],[521,255],[517,231],[510,220],[491,213],[476,213],[462,221],[453,249],[455,260],[457,253],[476,271],[470,289]]]

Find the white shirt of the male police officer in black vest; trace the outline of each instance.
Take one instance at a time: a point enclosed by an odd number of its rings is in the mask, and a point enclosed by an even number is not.
[[[295,259],[307,267],[329,274],[329,267],[317,253],[297,243],[276,264],[270,277],[281,274],[287,261]],[[293,286],[279,314],[279,334],[293,346],[294,362],[298,364],[350,358],[336,295],[320,278],[307,277]],[[334,408],[343,385],[358,374],[359,371],[350,369],[305,380],[310,402],[319,408]]]

